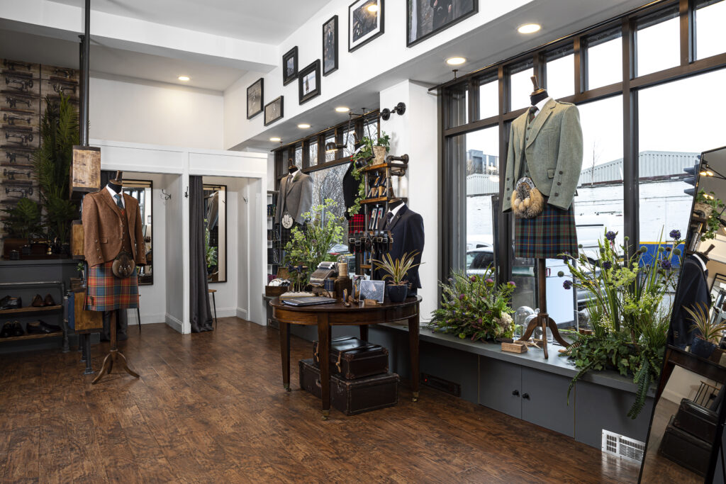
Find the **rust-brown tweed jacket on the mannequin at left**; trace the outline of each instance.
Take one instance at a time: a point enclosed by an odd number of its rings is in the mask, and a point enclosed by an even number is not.
[[[137,265],[146,264],[139,202],[123,194],[123,203],[126,206],[126,217],[121,216],[121,209],[105,186],[83,197],[83,254],[89,266],[113,261],[121,252],[124,223],[129,226],[134,261]]]

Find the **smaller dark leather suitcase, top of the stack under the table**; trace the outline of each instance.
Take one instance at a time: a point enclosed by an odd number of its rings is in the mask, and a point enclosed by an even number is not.
[[[313,342],[313,359],[320,364],[317,341]],[[388,349],[350,336],[330,342],[330,374],[354,380],[381,373],[388,373]]]

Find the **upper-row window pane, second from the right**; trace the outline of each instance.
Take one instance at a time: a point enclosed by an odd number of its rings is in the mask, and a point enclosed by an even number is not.
[[[680,64],[678,7],[643,17],[637,22],[636,75],[658,72]]]

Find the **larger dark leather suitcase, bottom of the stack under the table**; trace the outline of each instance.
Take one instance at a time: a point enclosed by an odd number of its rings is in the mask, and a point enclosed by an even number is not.
[[[312,359],[300,360],[300,387],[322,398],[320,369]],[[378,374],[357,380],[330,376],[330,404],[346,415],[385,409],[399,403],[399,375]]]

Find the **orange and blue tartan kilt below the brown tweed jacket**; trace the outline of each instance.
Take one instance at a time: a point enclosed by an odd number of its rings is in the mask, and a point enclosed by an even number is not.
[[[112,311],[139,306],[139,279],[136,271],[126,279],[113,275],[113,261],[89,268],[86,311]]]

